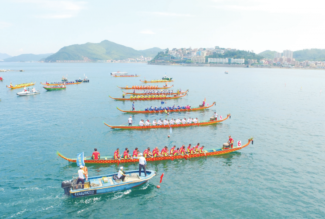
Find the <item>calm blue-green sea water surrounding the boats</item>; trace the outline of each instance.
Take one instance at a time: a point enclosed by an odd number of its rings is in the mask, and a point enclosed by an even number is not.
[[[97,63],[0,63],[0,218],[325,218],[324,94],[325,71],[223,67],[152,66]],[[117,70],[139,78],[113,78]],[[225,70],[229,74],[224,74]],[[198,106],[204,98],[216,106],[206,111],[133,115],[140,119],[198,117],[216,111],[227,119],[217,125],[169,130],[117,130],[105,126],[127,122],[131,102],[118,86],[141,85],[139,79],[175,79],[173,90],[189,89],[188,96],[168,105]],[[66,90],[45,91],[39,84],[69,80],[84,74],[89,83]],[[40,94],[18,97],[23,89],[12,84],[36,81]],[[136,110],[159,106],[160,101],[136,101]],[[205,159],[159,161],[148,183],[109,194],[71,199],[61,181],[71,179],[76,164],[56,152],[75,158],[90,156],[96,147],[102,156],[117,147],[163,146],[200,142],[220,147],[231,135],[235,142],[254,145]],[[170,148],[170,147],[169,147]],[[117,165],[87,165],[89,176],[117,172]],[[138,168],[124,164],[126,170]],[[159,176],[164,173],[161,188]]]

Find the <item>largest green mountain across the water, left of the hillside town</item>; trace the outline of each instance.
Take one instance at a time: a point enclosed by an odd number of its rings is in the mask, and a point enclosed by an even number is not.
[[[85,43],[65,46],[57,53],[47,57],[45,62],[56,60],[123,60],[126,58],[154,57],[158,52],[163,51],[154,47],[146,50],[135,50],[117,43],[104,40],[100,43]]]

